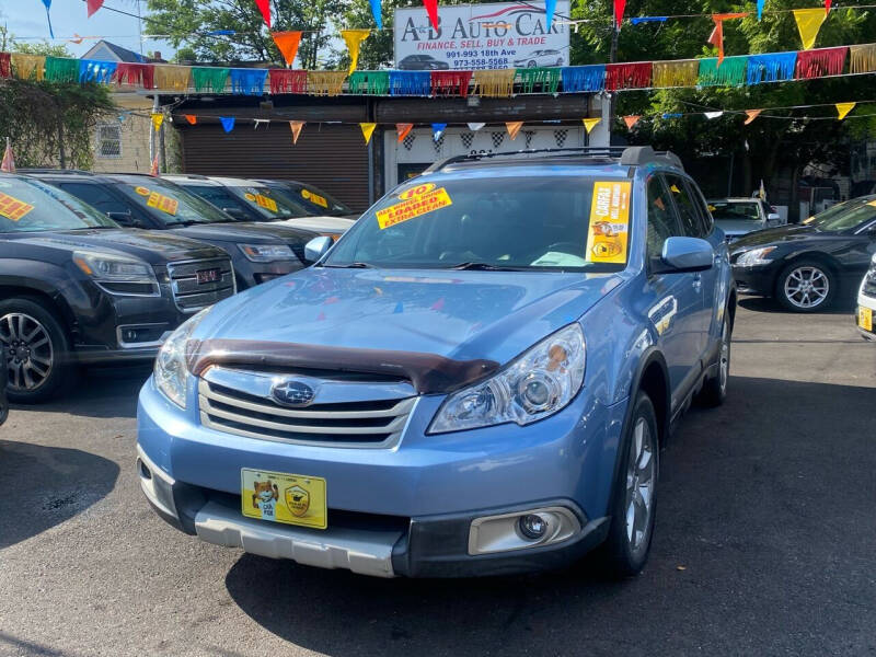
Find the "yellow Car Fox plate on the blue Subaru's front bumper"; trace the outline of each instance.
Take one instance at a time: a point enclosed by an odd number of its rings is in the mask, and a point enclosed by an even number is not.
[[[240,481],[241,511],[247,518],[313,529],[328,526],[324,479],[243,468]]]

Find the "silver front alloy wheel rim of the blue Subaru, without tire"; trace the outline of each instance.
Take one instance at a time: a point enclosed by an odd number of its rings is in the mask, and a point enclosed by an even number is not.
[[[644,417],[636,420],[630,441],[626,465],[626,540],[630,552],[638,555],[647,548],[648,528],[654,512],[656,460],[654,437]]]

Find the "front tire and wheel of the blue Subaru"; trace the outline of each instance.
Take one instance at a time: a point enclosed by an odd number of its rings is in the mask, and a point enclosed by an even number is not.
[[[657,417],[645,392],[639,392],[635,397],[621,449],[620,470],[611,496],[611,526],[601,548],[602,561],[609,573],[616,578],[631,577],[642,572],[648,560],[654,534],[660,450]],[[646,456],[647,461],[644,460]],[[632,468],[632,463],[636,466]],[[647,499],[643,495],[643,482],[648,482]],[[643,511],[644,516],[641,515]]]

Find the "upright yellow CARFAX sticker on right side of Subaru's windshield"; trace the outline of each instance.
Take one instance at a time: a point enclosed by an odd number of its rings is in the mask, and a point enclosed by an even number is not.
[[[593,183],[587,260],[591,263],[626,262],[630,230],[629,181]]]

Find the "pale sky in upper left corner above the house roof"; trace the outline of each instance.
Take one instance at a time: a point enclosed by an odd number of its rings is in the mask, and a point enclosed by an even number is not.
[[[66,44],[77,57],[82,56],[97,39],[85,39],[77,45],[66,39],[80,36],[100,36],[116,45],[139,53],[139,21],[115,11],[117,9],[137,14],[137,4],[146,12],[146,0],[104,0],[103,7],[88,18],[84,0],[51,0],[51,26],[56,39],[51,43]],[[15,38],[28,43],[48,39],[48,23],[43,0],[0,0],[0,24],[5,23]],[[38,38],[34,38],[38,37]],[[163,41],[145,39],[142,53],[160,50],[165,59],[173,54],[170,44]]]

